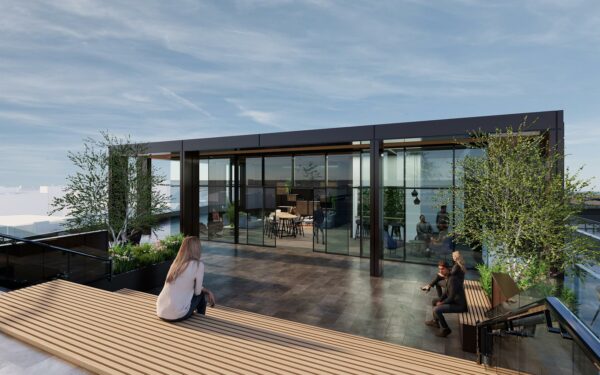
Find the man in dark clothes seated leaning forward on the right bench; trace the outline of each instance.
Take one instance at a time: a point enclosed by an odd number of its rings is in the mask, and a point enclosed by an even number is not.
[[[425,322],[428,326],[440,328],[435,334],[438,337],[446,337],[452,332],[446,323],[444,314],[461,313],[468,310],[463,280],[458,276],[450,275],[450,270],[447,268],[444,269],[443,275],[448,277],[446,293],[439,299],[434,298],[433,320]]]

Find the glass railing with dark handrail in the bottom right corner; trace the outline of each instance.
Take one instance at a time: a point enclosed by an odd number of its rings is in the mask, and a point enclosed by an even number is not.
[[[531,374],[598,374],[600,341],[560,300],[548,297],[477,326],[479,360]]]

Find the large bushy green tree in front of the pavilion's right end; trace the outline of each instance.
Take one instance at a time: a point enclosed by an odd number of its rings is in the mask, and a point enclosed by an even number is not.
[[[482,244],[516,280],[598,259],[573,223],[590,181],[563,170],[564,156],[546,135],[527,131],[527,118],[516,129],[475,133],[464,146],[485,152],[457,161],[457,239]]]

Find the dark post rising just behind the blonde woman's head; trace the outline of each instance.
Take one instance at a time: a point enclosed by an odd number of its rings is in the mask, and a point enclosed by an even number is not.
[[[200,163],[196,152],[181,153],[179,226],[186,236],[200,235]]]

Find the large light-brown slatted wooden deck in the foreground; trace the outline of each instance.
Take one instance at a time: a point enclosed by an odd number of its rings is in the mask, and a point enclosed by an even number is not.
[[[223,306],[166,323],[155,299],[52,281],[0,295],[0,331],[100,374],[513,373]]]

